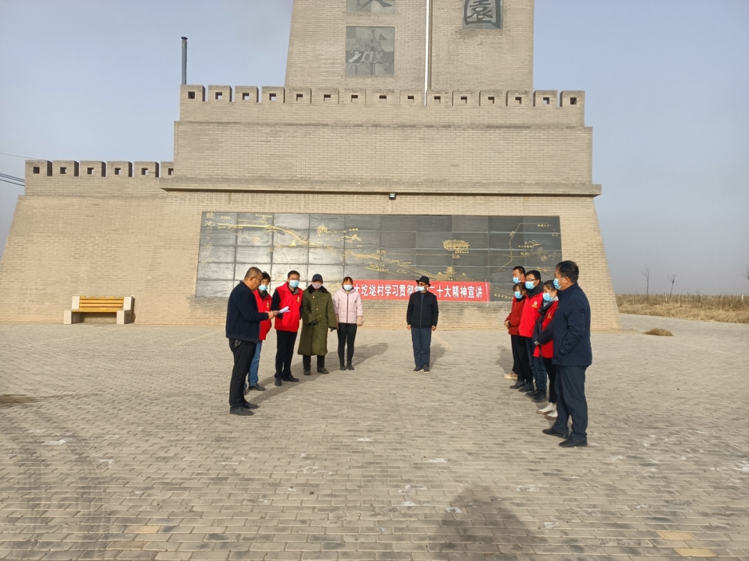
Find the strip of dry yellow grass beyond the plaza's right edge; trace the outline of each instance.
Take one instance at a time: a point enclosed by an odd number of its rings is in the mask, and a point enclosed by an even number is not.
[[[617,294],[616,303],[622,314],[749,324],[749,297],[723,294],[679,294],[673,297],[664,294],[650,297],[641,294]]]

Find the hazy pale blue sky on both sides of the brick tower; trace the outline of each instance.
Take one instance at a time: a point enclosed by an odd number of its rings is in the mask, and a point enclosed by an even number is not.
[[[0,152],[172,160],[180,37],[189,83],[283,85],[290,18],[291,0],[0,0]],[[652,292],[675,273],[749,294],[748,29],[747,0],[536,0],[534,88],[586,91],[617,292],[648,265]],[[20,194],[0,183],[0,248]]]

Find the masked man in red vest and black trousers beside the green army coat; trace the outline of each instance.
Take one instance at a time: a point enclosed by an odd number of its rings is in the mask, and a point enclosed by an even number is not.
[[[286,282],[276,288],[270,302],[271,310],[287,308],[273,324],[276,327],[276,386],[284,381],[299,381],[291,374],[291,359],[294,357],[294,344],[302,318],[302,291],[299,289],[299,272],[295,270],[289,271]]]

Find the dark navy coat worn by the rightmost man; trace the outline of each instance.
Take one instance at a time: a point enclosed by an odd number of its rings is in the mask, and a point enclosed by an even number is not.
[[[583,289],[575,283],[557,291],[560,299],[557,313],[551,320],[554,331],[554,358],[557,366],[590,366],[590,304]]]

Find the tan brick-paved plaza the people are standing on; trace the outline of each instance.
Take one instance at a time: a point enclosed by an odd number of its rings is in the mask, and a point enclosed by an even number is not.
[[[0,559],[749,559],[749,326],[622,321],[578,449],[504,333],[438,330],[427,375],[365,327],[282,387],[271,333],[240,417],[221,328],[0,325]]]

